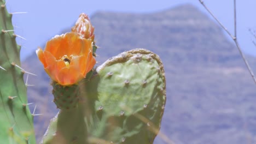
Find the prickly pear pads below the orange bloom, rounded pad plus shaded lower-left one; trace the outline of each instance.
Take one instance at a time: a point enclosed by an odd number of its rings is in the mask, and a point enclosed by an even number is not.
[[[79,88],[77,109],[61,110],[42,143],[153,143],[166,101],[164,68],[153,52],[120,53]]]

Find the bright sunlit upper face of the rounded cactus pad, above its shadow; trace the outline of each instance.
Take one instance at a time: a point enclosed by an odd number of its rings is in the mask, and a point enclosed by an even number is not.
[[[158,100],[159,94],[165,101],[164,69],[155,58],[152,52],[137,49],[121,53],[97,68],[98,80],[92,80],[91,85],[97,85],[98,99],[110,116],[150,109],[150,104],[156,102],[152,99]]]

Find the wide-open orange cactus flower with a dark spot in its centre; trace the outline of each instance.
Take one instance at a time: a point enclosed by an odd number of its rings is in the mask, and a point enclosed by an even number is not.
[[[73,32],[56,35],[46,43],[44,51],[39,48],[36,53],[46,73],[62,86],[82,80],[96,63],[91,39]]]

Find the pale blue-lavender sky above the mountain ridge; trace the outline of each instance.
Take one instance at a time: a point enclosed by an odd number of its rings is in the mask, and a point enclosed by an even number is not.
[[[9,0],[7,8],[9,13],[27,12],[27,14],[14,14],[13,24],[15,33],[27,40],[17,38],[23,46],[21,57],[30,55],[46,40],[59,34],[62,29],[71,27],[80,13],[91,16],[96,11],[121,11],[129,13],[153,13],[176,7],[180,4],[191,3],[203,13],[206,10],[198,0],[105,0],[105,1],[66,1],[66,0]],[[205,0],[205,4],[223,24],[234,32],[233,3],[231,0]],[[252,35],[248,29],[256,30],[256,1],[237,1],[237,34],[242,50],[247,54],[256,56],[256,46],[252,43]],[[206,13],[207,14],[207,13]],[[170,33],[171,34],[171,33]],[[97,38],[97,35],[96,35]],[[144,47],[147,48],[147,47]],[[221,52],[221,51],[220,51]]]

